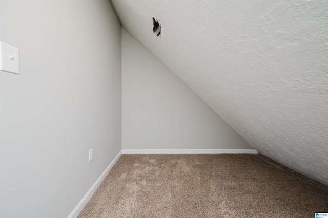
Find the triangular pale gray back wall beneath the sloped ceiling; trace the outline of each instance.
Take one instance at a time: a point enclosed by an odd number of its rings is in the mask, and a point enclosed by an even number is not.
[[[122,149],[253,148],[122,28]]]

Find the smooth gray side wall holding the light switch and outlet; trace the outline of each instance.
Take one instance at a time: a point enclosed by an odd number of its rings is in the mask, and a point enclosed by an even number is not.
[[[0,216],[67,217],[121,150],[121,25],[100,0],[2,0],[0,22]]]

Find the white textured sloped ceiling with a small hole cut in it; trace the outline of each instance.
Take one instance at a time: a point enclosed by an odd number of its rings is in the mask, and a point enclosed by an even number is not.
[[[112,3],[122,25],[260,154],[328,185],[327,1]]]

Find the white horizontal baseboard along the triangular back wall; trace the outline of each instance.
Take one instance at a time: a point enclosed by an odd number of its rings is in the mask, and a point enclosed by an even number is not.
[[[255,149],[122,149],[122,154],[257,154]]]

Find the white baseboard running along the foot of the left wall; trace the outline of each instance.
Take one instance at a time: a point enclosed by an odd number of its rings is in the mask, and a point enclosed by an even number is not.
[[[74,210],[71,212],[71,214],[68,215],[68,218],[77,217],[78,214],[81,212],[83,207],[87,204],[87,202],[90,200],[92,194],[96,191],[98,186],[101,182],[105,179],[108,172],[112,169],[112,167],[115,165],[118,158],[121,156],[122,151],[119,151],[114,160],[108,165],[108,167],[105,169],[103,173],[101,173],[100,177],[97,179],[97,181],[92,185],[92,187],[89,189],[89,191],[84,195],[84,197],[81,199],[81,201],[76,205]]]

